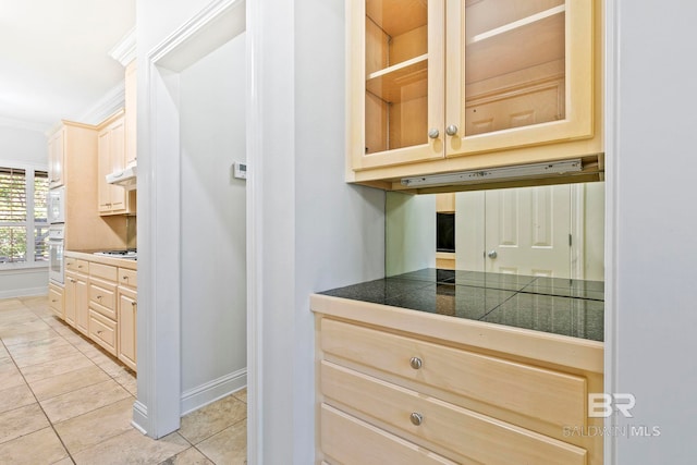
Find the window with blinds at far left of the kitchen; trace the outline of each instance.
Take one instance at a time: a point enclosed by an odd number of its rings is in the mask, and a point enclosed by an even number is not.
[[[0,267],[48,261],[48,173],[0,167]]]

